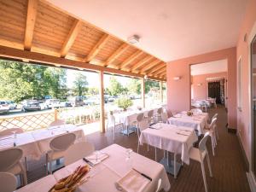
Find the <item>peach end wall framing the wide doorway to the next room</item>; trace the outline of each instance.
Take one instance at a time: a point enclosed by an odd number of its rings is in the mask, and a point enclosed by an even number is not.
[[[190,108],[190,65],[227,59],[228,123],[236,129],[236,47],[167,62],[167,108],[173,111]],[[180,76],[180,80],[173,77]],[[230,84],[230,85],[229,85]]]

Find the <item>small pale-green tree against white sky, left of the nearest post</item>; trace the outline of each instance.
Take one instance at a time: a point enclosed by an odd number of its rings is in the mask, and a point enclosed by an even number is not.
[[[87,78],[83,73],[76,73],[76,78],[73,81],[74,87],[74,93],[76,96],[83,96],[85,95],[87,89]]]

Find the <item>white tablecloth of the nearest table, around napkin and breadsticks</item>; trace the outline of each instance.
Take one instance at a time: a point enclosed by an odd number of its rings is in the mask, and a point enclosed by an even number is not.
[[[144,192],[154,192],[159,178],[162,179],[161,189],[165,189],[165,191],[170,189],[171,185],[164,166],[134,152],[131,153],[131,162],[128,164],[125,162],[125,158],[127,157],[125,150],[126,148],[117,144],[102,149],[102,152],[109,154],[108,159],[102,161],[101,164],[94,166],[90,170],[88,173],[88,176],[90,176],[88,182],[81,185],[78,191],[118,191],[115,189],[114,183],[121,177],[124,177],[127,172],[131,171],[131,167],[136,168],[139,172],[143,172],[153,179],[153,181],[148,183],[147,187],[143,190]],[[85,165],[85,162],[79,160],[72,165],[66,166],[55,172],[54,176],[56,180],[59,180],[62,177],[67,177],[67,175],[71,174],[79,165]]]

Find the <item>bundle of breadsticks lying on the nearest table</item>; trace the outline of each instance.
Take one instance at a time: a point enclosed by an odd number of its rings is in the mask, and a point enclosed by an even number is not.
[[[73,192],[82,183],[84,176],[90,171],[90,167],[79,166],[67,177],[61,178],[55,185],[49,189],[49,192]]]

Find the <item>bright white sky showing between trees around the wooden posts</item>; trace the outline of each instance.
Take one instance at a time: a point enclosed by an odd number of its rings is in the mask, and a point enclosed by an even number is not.
[[[73,81],[75,79],[76,73],[83,73],[87,77],[88,81],[88,87],[99,87],[100,81],[99,81],[99,74],[98,73],[91,73],[91,72],[83,72],[73,69],[67,69],[67,87],[72,88],[73,87]],[[109,79],[112,75],[104,74],[104,86],[108,87],[109,85]],[[119,81],[120,84],[126,85],[129,81],[129,78],[115,76],[116,79]]]

